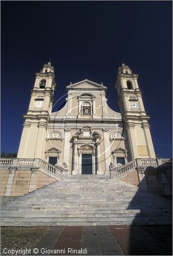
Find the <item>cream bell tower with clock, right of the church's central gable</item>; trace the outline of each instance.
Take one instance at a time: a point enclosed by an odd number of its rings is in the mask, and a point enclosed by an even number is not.
[[[131,160],[156,158],[149,130],[149,116],[144,109],[142,91],[137,79],[138,75],[121,61],[115,84],[118,91],[118,106],[127,132]]]

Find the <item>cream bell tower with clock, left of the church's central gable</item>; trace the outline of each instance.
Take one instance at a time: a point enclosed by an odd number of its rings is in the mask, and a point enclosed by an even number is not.
[[[44,157],[49,114],[53,105],[53,94],[56,88],[54,68],[51,61],[35,73],[35,83],[31,90],[31,100],[27,114],[24,115],[17,158]]]

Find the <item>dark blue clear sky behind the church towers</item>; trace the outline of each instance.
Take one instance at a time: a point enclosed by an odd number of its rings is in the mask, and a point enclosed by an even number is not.
[[[156,154],[172,156],[171,1],[1,1],[1,56],[1,151],[17,152],[34,73],[49,58],[55,100],[88,78],[116,111],[123,59],[139,74]]]

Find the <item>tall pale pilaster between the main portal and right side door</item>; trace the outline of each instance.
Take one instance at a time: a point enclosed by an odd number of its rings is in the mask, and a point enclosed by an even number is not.
[[[110,162],[111,162],[111,151],[110,151],[110,138],[109,138],[109,129],[103,128],[103,137],[104,137],[104,159],[105,159],[105,174],[110,173]]]

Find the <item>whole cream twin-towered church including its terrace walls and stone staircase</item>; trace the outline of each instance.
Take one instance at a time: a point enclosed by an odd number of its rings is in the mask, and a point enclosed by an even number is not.
[[[1,159],[1,225],[168,225],[172,160],[157,158],[138,75],[123,62],[115,88],[88,79],[56,88],[49,61],[35,74],[17,158]],[[157,194],[157,195],[154,195]]]

